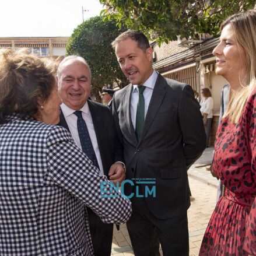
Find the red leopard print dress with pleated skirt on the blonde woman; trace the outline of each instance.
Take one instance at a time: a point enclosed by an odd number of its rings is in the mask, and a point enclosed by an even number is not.
[[[226,118],[219,125],[213,171],[226,189],[212,213],[199,255],[256,255],[256,214],[251,208],[256,195],[256,89],[238,124]]]

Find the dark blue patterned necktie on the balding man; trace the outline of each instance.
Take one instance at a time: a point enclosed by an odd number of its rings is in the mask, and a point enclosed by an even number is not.
[[[86,153],[87,157],[93,162],[93,165],[99,169],[96,154],[93,149],[93,144],[90,139],[90,135],[86,126],[85,120],[82,117],[82,111],[75,111],[74,114],[78,117],[78,135],[83,152]]]

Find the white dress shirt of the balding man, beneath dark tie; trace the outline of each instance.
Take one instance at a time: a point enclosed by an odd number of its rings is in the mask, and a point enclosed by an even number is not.
[[[69,108],[64,103],[61,104],[61,110],[65,117],[66,123],[68,124],[68,128],[69,128],[69,131],[71,132],[72,138],[74,139],[78,148],[82,150],[82,146],[81,146],[79,134],[78,134],[78,124],[77,124],[78,117],[75,114],[73,114],[75,110],[72,110],[72,108]],[[103,165],[100,157],[100,150],[99,150],[97,137],[96,137],[96,133],[93,125],[92,115],[90,114],[87,101],[85,105],[80,109],[80,111],[82,111],[82,117],[83,117],[83,120],[85,120],[87,129],[90,135],[90,139],[93,144],[93,149],[96,154],[97,161],[100,167],[100,173],[104,175]]]

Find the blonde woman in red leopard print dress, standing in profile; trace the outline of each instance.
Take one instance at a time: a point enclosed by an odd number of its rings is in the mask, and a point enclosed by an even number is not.
[[[230,95],[216,134],[212,171],[225,192],[212,213],[199,255],[255,255],[251,235],[256,195],[255,10],[230,16],[220,30],[213,55],[216,73],[229,82]]]

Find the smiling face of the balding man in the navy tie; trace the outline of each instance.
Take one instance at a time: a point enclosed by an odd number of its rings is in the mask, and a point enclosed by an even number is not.
[[[59,71],[58,92],[63,103],[80,110],[90,96],[90,71],[78,60],[66,61]]]

